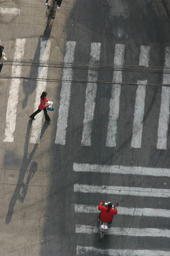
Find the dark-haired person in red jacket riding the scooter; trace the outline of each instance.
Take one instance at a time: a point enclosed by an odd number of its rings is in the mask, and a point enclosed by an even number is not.
[[[98,210],[101,211],[98,218],[98,222],[102,220],[102,222],[111,224],[113,216],[117,214],[117,208],[114,207],[114,209],[112,209],[111,203],[107,204],[107,206],[103,206],[103,203],[101,202],[98,206]]]

